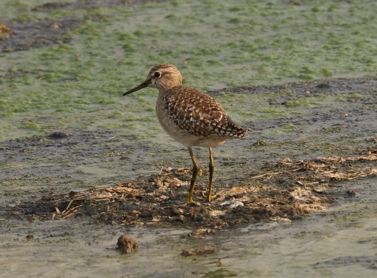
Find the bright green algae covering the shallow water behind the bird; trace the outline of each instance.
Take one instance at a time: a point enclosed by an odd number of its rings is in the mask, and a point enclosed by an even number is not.
[[[134,111],[150,111],[155,90],[145,89],[124,98],[121,94],[143,82],[150,67],[158,63],[175,64],[184,76],[184,84],[198,89],[373,76],[371,73],[377,70],[377,48],[373,43],[377,5],[372,2],[356,5],[309,1],[291,5],[279,1],[185,1],[78,11],[62,7],[44,13],[31,9],[43,3],[6,1],[2,4],[4,16],[11,17],[17,11],[39,18],[81,14],[92,15],[92,19],[66,34],[72,38],[67,44],[0,57],[0,131],[5,131],[0,136],[5,138],[12,137],[12,128],[13,133],[25,128],[25,124],[7,122],[19,112],[38,119],[40,112],[53,109],[55,121],[59,121],[58,115],[78,113],[78,118],[86,117],[93,107],[101,105],[104,110],[112,109],[112,115],[118,111],[123,115],[114,118],[115,125],[103,125],[101,116],[93,117],[89,124],[115,128],[118,120],[124,121]],[[18,72],[23,76],[6,77]],[[357,95],[337,98],[360,99]],[[223,103],[222,98],[218,99]],[[127,104],[130,100],[132,108]],[[261,113],[260,117],[284,117],[300,113],[293,111],[296,108],[315,107],[325,101],[315,96],[290,99],[285,109],[260,109],[261,101],[226,108],[236,119],[245,121],[244,116],[255,113]],[[239,112],[250,105],[257,108]],[[146,121],[152,119],[147,116]],[[43,121],[38,119],[39,127],[29,125],[39,133],[52,130],[52,125]],[[84,121],[80,118],[77,122]],[[67,126],[73,127],[62,127]]]

